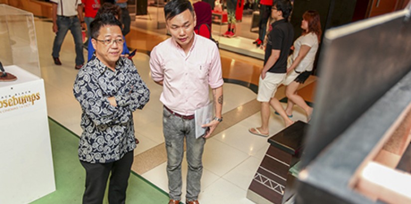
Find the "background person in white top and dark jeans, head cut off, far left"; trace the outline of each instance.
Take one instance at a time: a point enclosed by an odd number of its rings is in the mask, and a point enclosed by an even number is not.
[[[50,0],[51,16],[53,18],[53,32],[56,37],[53,42],[53,51],[51,56],[55,65],[61,65],[60,50],[66,37],[67,31],[70,30],[74,38],[76,50],[75,69],[80,69],[84,64],[83,40],[81,28],[86,29],[86,23],[83,19],[83,6],[78,0]]]

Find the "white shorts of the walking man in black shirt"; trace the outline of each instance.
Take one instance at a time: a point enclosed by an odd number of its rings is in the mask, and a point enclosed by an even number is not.
[[[285,78],[284,74],[277,74],[267,72],[266,78],[261,79],[258,86],[257,101],[259,102],[269,102],[271,98],[274,98],[277,87],[281,85],[281,82]]]

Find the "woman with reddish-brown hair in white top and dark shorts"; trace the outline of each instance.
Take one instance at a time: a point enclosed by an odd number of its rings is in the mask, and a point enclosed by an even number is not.
[[[287,77],[282,84],[286,85],[285,95],[288,98],[285,112],[292,116],[292,106],[297,104],[307,114],[307,121],[311,119],[312,107],[297,95],[299,84],[303,84],[310,76],[315,54],[321,37],[320,16],[315,10],[307,10],[302,15],[302,34],[294,41],[294,52],[291,56],[292,64],[288,64]]]

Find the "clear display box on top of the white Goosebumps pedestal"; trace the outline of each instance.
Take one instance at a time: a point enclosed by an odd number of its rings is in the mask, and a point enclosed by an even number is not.
[[[32,13],[0,4],[0,62],[4,67],[16,65],[40,77]],[[6,72],[13,74],[10,68]]]

